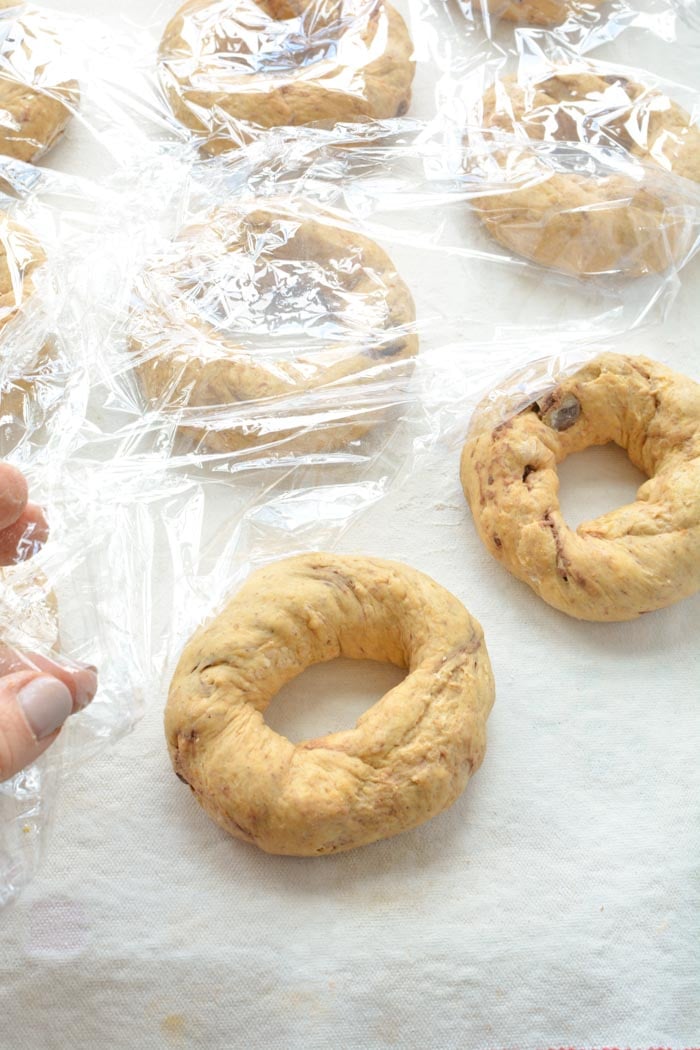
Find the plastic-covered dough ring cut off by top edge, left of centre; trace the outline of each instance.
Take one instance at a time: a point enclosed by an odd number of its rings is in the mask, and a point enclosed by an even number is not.
[[[188,0],[160,49],[161,83],[175,118],[212,136],[209,152],[221,152],[240,142],[232,120],[272,128],[402,117],[415,72],[408,29],[384,0],[370,10],[360,3],[353,12],[353,3]]]

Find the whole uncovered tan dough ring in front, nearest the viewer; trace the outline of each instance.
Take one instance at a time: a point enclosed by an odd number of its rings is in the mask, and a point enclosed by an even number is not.
[[[408,676],[354,729],[294,744],[264,721],[281,687],[337,657]],[[165,723],[177,776],[267,853],[339,853],[416,827],[482,763],[493,678],[480,625],[416,569],[304,554],[258,569],[190,639]]]

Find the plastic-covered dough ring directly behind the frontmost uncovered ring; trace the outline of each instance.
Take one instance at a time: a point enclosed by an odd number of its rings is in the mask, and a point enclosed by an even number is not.
[[[279,442],[313,454],[362,437],[375,383],[409,378],[415,317],[376,242],[323,209],[273,197],[225,201],[182,228],[148,259],[127,323],[145,399],[177,416],[195,452]],[[369,387],[368,412],[347,430],[288,428],[292,406],[313,411],[318,392],[336,400],[356,381]]]

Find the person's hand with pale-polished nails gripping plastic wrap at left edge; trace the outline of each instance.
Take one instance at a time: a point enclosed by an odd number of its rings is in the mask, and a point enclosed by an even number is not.
[[[0,565],[26,561],[47,537],[41,507],[27,502],[23,475],[0,463]],[[0,781],[39,758],[97,689],[93,668],[67,669],[0,643]]]

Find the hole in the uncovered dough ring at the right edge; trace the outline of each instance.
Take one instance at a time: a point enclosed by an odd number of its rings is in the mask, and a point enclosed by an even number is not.
[[[596,445],[569,456],[557,468],[559,506],[571,528],[634,503],[646,481],[618,445]]]

